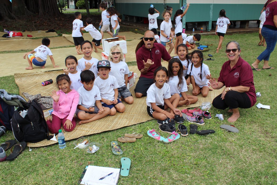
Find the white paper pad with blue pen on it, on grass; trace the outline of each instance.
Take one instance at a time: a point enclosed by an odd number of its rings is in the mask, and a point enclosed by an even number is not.
[[[81,183],[80,183],[85,185],[103,185],[103,184],[116,185],[119,178],[119,173],[120,173],[120,168],[109,168],[109,167],[91,166],[91,165],[87,166],[85,170],[86,170],[85,174],[81,179]],[[99,180],[100,178],[112,172],[113,174],[107,176],[102,180]]]

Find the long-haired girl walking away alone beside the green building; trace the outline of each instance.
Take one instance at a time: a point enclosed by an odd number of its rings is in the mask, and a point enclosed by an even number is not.
[[[222,49],[222,41],[224,38],[224,35],[226,33],[227,27],[230,26],[229,18],[226,17],[226,12],[224,9],[220,10],[219,12],[219,18],[216,22],[216,35],[219,36],[219,42],[216,49],[216,52],[218,53],[220,49]]]

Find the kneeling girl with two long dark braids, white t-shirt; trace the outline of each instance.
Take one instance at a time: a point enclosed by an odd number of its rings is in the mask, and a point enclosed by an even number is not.
[[[191,64],[188,67],[188,75],[191,77],[191,84],[193,86],[192,94],[194,96],[202,93],[203,97],[207,97],[209,93],[210,74],[209,67],[203,64],[203,54],[200,50],[194,50],[191,54]]]

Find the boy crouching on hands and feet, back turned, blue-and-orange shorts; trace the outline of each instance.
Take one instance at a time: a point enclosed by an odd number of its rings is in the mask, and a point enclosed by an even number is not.
[[[41,41],[41,44],[42,45],[40,45],[36,49],[32,50],[31,52],[27,52],[23,55],[24,59],[26,59],[26,56],[28,55],[27,60],[29,63],[29,67],[26,67],[25,69],[33,69],[32,63],[36,66],[40,66],[42,69],[45,68],[47,55],[49,56],[53,64],[53,67],[54,68],[59,67],[58,65],[55,64],[55,61],[53,59],[53,54],[48,48],[50,45],[50,39],[43,38]],[[33,53],[35,53],[35,55],[33,55]]]

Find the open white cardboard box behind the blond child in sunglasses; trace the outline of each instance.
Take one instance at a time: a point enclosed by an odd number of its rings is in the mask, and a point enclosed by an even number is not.
[[[102,39],[103,50],[106,53],[110,53],[110,48],[115,45],[119,45],[123,53],[127,53],[127,43],[126,40],[119,40],[118,37]]]

